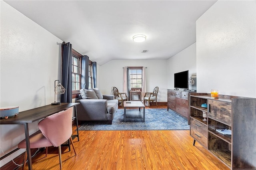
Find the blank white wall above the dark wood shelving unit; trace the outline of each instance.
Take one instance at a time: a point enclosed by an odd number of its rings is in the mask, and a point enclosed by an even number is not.
[[[256,1],[218,0],[196,21],[197,92],[256,97]]]

